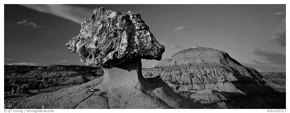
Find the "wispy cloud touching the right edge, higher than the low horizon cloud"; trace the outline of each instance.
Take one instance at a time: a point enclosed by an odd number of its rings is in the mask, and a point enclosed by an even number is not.
[[[273,41],[281,46],[286,46],[286,18],[272,31],[272,37],[266,39],[266,41]]]

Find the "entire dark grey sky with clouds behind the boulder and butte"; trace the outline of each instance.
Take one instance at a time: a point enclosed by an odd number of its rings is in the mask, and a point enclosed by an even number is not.
[[[198,45],[259,72],[286,72],[285,4],[5,4],[4,64],[86,65],[65,44],[100,7],[141,14],[163,58]],[[142,67],[158,62],[142,59]]]

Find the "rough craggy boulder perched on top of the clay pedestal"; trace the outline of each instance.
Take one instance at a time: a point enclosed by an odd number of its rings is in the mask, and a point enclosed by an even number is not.
[[[106,8],[96,8],[91,18],[85,18],[80,34],[66,46],[96,67],[114,67],[130,58],[160,60],[165,50],[140,14]]]

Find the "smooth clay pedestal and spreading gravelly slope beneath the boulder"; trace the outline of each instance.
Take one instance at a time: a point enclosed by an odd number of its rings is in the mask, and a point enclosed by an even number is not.
[[[175,93],[160,78],[144,79],[141,59],[104,68],[105,75],[82,85],[25,99],[40,109],[203,109]],[[93,90],[93,91],[92,91]],[[45,101],[43,101],[45,100]]]

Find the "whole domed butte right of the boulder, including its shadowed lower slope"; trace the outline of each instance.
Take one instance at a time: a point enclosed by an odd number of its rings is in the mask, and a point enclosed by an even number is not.
[[[278,106],[271,106],[262,98],[263,94],[277,91],[267,85],[255,69],[243,66],[229,54],[216,49],[184,49],[169,59],[161,60],[155,68],[142,69],[142,74],[145,78],[160,76],[175,92],[200,103],[211,104],[228,100],[231,101],[227,104],[228,108]],[[279,99],[276,103],[281,99],[281,103],[286,102],[283,100],[284,95],[277,95]],[[242,99],[250,97],[254,100],[245,102]],[[235,100],[234,104],[232,100]],[[260,106],[253,104],[256,103],[254,101]],[[285,105],[281,103],[280,108],[283,108]]]

